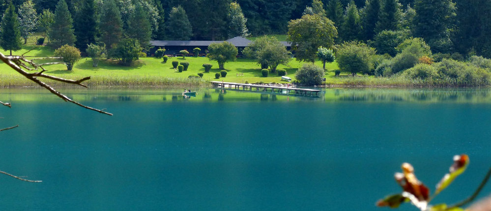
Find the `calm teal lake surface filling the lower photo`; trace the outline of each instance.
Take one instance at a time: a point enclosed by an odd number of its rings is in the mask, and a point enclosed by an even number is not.
[[[491,167],[491,90],[0,90],[1,210],[384,211],[410,162],[432,204],[470,196]],[[480,197],[491,193],[488,184]],[[415,211],[403,205],[401,211]]]

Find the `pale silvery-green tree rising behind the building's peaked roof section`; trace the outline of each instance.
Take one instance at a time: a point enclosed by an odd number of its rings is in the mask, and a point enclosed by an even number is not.
[[[247,18],[244,17],[242,9],[237,2],[231,2],[229,8],[229,37],[246,37],[249,30],[246,26]]]

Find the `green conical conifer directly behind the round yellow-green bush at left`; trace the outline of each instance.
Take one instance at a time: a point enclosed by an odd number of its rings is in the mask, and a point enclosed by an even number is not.
[[[73,20],[68,6],[65,0],[59,0],[55,9],[55,22],[49,30],[51,41],[58,47],[65,44],[73,45],[75,42],[73,31]]]

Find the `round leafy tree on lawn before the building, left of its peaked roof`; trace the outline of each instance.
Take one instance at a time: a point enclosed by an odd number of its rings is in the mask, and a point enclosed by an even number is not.
[[[228,60],[234,61],[236,59],[238,50],[230,42],[221,43],[211,43],[208,46],[208,57],[209,60],[215,60],[218,62],[218,68],[225,69],[225,62]]]

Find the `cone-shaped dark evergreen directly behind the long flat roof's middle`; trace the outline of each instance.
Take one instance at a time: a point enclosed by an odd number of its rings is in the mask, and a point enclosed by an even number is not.
[[[193,36],[191,23],[182,6],[173,7],[167,20],[167,38],[170,40],[189,40]]]

